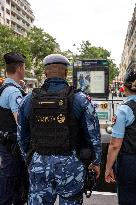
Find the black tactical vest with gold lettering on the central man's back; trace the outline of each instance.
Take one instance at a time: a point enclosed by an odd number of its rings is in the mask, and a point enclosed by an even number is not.
[[[39,154],[63,154],[80,146],[80,126],[72,113],[74,90],[32,92],[31,148]]]

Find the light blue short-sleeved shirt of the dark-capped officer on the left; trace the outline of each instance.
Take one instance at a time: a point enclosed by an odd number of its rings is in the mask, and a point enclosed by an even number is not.
[[[16,85],[18,88],[21,88],[21,86],[11,78],[6,78],[4,84],[6,83],[12,83]],[[1,107],[11,109],[12,112],[18,112],[19,106],[23,99],[22,93],[18,88],[14,86],[9,86],[5,88],[5,90],[2,92],[0,96]]]

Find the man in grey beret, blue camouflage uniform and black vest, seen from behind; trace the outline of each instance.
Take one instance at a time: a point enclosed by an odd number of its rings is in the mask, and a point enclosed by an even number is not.
[[[83,201],[85,167],[77,156],[83,144],[81,126],[93,153],[90,167],[100,174],[101,140],[95,109],[82,92],[66,81],[69,61],[59,54],[44,61],[47,79],[29,94],[19,112],[19,143],[30,157],[29,205],[79,205]]]

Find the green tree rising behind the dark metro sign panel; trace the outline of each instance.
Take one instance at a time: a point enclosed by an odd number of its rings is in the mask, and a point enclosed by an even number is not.
[[[83,41],[80,45],[79,50],[79,58],[80,59],[106,59],[109,62],[109,70],[110,70],[110,82],[118,75],[118,68],[114,63],[113,59],[111,59],[111,53],[102,48],[102,47],[95,47],[89,41]]]

